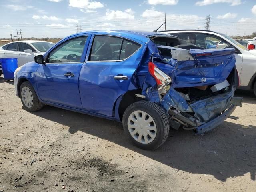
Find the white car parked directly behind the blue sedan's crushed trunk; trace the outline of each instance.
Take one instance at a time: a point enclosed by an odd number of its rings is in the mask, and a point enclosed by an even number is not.
[[[253,90],[256,95],[256,50],[247,50],[240,43],[229,36],[207,30],[170,30],[161,31],[172,34],[188,43],[207,48],[207,40],[219,41],[226,44],[226,48],[234,48],[236,56],[236,68],[240,74],[239,89]],[[219,43],[220,44],[220,43]],[[218,44],[218,45],[219,45]],[[217,46],[218,46],[217,45]],[[225,47],[223,47],[225,48]]]

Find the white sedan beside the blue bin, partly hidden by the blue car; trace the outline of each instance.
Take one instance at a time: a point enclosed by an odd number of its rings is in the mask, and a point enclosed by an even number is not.
[[[33,61],[54,45],[47,41],[15,41],[0,47],[0,58],[18,58],[18,67]]]

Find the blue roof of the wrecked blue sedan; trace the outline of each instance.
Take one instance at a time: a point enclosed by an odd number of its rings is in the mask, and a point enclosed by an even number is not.
[[[140,40],[144,43],[148,42],[148,37],[147,36],[154,36],[154,35],[168,35],[171,37],[175,37],[173,35],[169,34],[162,34],[160,32],[152,32],[152,31],[139,31],[139,30],[93,30],[93,31],[86,31],[86,32],[80,32],[78,34],[88,34],[88,33],[93,33],[93,34],[98,34],[98,35],[113,35],[113,36],[120,36],[123,38],[134,38],[137,40]],[[73,34],[68,36],[67,38],[78,35],[78,34]]]

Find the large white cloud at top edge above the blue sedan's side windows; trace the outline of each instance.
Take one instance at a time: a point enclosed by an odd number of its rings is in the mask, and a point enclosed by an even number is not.
[[[104,4],[99,1],[91,0],[69,0],[68,6],[84,9],[98,9],[104,7]]]

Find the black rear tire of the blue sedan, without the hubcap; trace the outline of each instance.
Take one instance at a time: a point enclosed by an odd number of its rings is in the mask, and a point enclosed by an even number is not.
[[[132,114],[137,110],[141,110],[149,114],[153,118],[156,124],[156,130],[157,130],[156,137],[152,142],[148,144],[142,144],[136,141],[131,136],[128,130],[128,118],[130,114]],[[132,142],[138,148],[142,148],[144,150],[155,150],[156,148],[160,147],[166,141],[169,134],[169,130],[170,130],[168,116],[164,112],[164,109],[161,108],[159,105],[152,102],[148,102],[148,101],[138,101],[128,106],[123,116],[123,128],[124,128],[124,132],[132,140]]]

